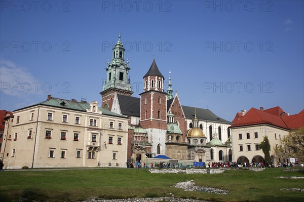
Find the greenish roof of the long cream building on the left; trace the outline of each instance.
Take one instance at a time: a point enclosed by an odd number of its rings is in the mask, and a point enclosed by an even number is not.
[[[87,109],[90,108],[90,104],[87,103],[86,101],[77,102],[77,101],[65,100],[65,99],[60,99],[60,98],[51,98],[46,101],[31,105],[28,107],[32,107],[32,106],[36,106],[36,105],[52,106],[52,107],[58,107],[58,108],[62,108],[62,109],[70,109],[70,110],[84,111],[84,112],[86,112]],[[28,107],[24,107],[24,108],[28,108]],[[21,108],[21,109],[24,109],[24,108]],[[111,112],[111,111],[103,109],[101,107],[98,107],[98,109],[104,115],[126,118],[126,116]],[[17,109],[17,110],[20,110],[20,109]],[[17,110],[15,110],[15,111],[17,111]]]

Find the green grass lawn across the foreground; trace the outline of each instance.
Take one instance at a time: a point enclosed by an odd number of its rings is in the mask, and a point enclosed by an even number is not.
[[[283,168],[225,171],[222,174],[151,174],[145,169],[50,170],[0,173],[0,201],[19,201],[20,197],[41,201],[77,201],[85,198],[130,197],[197,198],[212,201],[302,201],[304,179],[278,176],[304,176],[303,171],[283,172]],[[171,187],[177,182],[195,180],[198,186],[229,190],[229,194],[183,191]]]

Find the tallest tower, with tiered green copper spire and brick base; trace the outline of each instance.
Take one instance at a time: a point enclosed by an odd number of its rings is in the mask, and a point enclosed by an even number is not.
[[[111,110],[115,94],[131,96],[133,94],[129,74],[129,60],[125,62],[125,48],[120,40],[112,49],[112,61],[108,61],[106,72],[107,77],[103,81],[101,106]]]

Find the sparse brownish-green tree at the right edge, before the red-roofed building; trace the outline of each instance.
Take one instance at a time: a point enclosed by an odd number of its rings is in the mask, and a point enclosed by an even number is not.
[[[288,155],[304,161],[304,128],[291,131],[281,140],[282,147],[276,148],[278,155]]]

